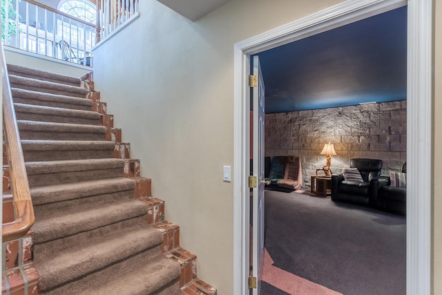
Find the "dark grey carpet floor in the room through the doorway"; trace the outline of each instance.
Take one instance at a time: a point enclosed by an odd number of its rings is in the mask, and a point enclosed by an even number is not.
[[[345,295],[406,294],[405,220],[330,198],[265,192],[273,265]]]

